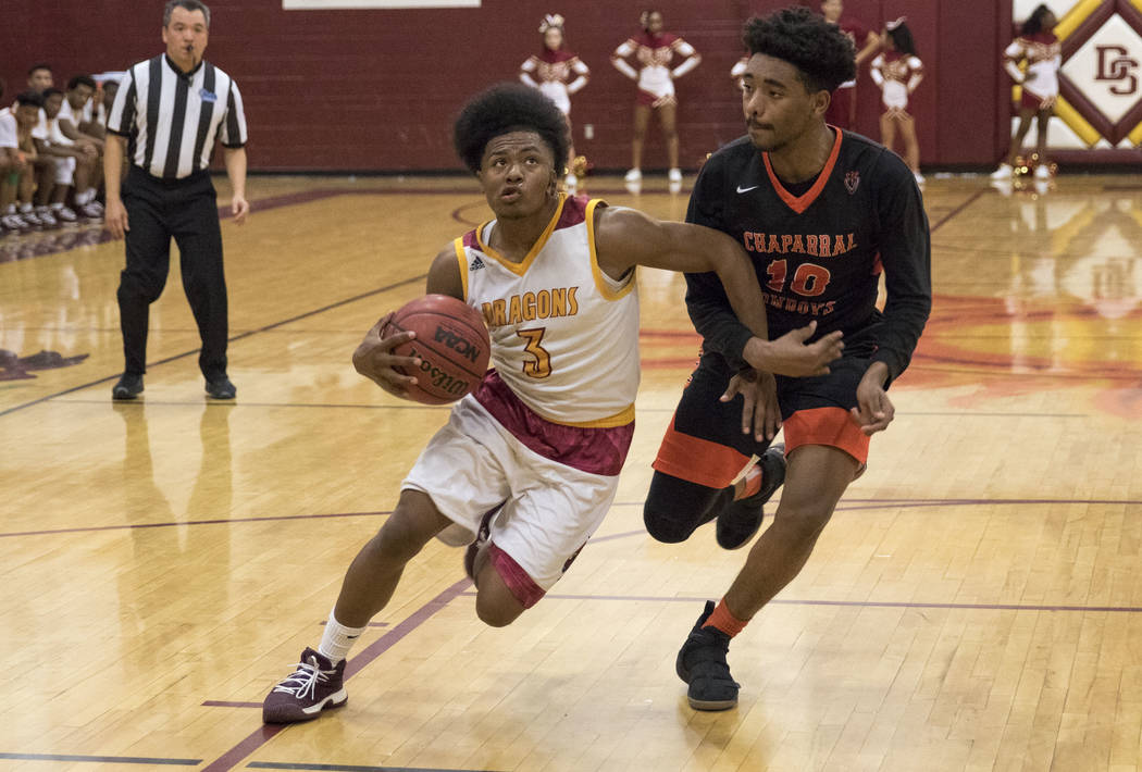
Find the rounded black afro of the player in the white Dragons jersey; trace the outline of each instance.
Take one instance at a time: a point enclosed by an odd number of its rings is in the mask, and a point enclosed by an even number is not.
[[[555,172],[568,158],[566,119],[555,103],[523,83],[499,83],[474,96],[460,111],[452,142],[460,160],[480,171],[488,143],[512,131],[534,131],[552,148]]]

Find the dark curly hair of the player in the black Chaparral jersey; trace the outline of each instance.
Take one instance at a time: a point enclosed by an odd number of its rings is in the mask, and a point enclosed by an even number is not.
[[[809,8],[785,8],[746,22],[741,39],[750,55],[788,62],[810,91],[831,91],[856,77],[856,49],[836,24]]]

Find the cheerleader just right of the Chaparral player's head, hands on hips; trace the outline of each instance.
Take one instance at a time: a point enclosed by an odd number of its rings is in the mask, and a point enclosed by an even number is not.
[[[916,121],[908,113],[908,97],[924,80],[924,64],[916,56],[916,43],[903,16],[884,25],[880,40],[883,50],[872,59],[871,67],[872,82],[880,88],[884,103],[880,142],[892,150],[899,127],[904,140],[904,161],[916,183],[923,184],[920,146],[916,140]]]

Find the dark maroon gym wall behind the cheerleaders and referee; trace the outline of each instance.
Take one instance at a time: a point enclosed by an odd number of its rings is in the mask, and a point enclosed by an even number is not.
[[[0,77],[5,100],[30,64],[50,62],[57,85],[77,72],[120,70],[163,50],[161,0],[3,0]],[[609,62],[637,29],[642,2],[483,0],[478,9],[284,11],[281,0],[215,0],[207,57],[234,75],[250,123],[250,166],[262,170],[455,169],[449,131],[460,102],[514,79],[540,45],[545,13],[568,17],[568,46],[592,67],[572,99],[576,144],[598,168],[629,163],[634,85]],[[740,27],[788,5],[755,0],[661,0],[667,30],[702,54],[678,81],[682,164],[741,134],[729,71]],[[809,5],[809,3],[806,3]],[[814,3],[815,5],[815,3]],[[142,8],[140,8],[142,7]],[[1006,146],[1006,81],[999,53],[1011,0],[850,0],[846,15],[879,30],[907,13],[927,70],[915,96],[926,166],[987,164]],[[861,73],[858,130],[877,138],[878,94]],[[592,123],[594,139],[582,127]],[[644,166],[664,167],[657,131]]]

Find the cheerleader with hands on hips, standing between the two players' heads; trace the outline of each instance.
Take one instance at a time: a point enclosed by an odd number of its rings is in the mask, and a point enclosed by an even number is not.
[[[627,172],[627,183],[638,184],[642,180],[643,138],[650,123],[651,111],[658,112],[662,136],[666,139],[666,152],[670,161],[669,179],[674,185],[682,184],[682,170],[678,168],[678,132],[676,116],[678,100],[674,95],[674,81],[698,66],[702,61],[694,47],[678,35],[662,32],[662,14],[658,10],[645,10],[640,19],[643,31],[628,39],[611,54],[611,64],[624,75],[638,83],[638,97],[635,102],[635,134],[630,143],[632,164]],[[634,56],[641,65],[635,70],[627,62]],[[675,57],[681,64],[670,67]]]

